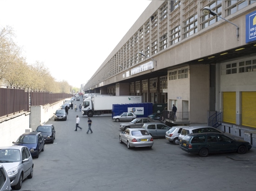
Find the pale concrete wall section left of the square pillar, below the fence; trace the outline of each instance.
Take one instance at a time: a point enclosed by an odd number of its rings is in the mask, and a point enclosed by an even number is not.
[[[0,121],[0,146],[12,146],[13,141],[25,133],[30,132],[29,115],[30,112],[18,113],[1,118]]]

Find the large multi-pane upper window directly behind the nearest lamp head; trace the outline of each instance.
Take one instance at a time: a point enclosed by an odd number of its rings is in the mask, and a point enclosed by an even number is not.
[[[222,1],[221,0],[211,0],[209,6],[212,11],[216,12],[217,15],[222,15]],[[206,28],[209,25],[216,23],[217,21],[221,20],[221,18],[210,15],[210,14],[202,14],[202,29]]]

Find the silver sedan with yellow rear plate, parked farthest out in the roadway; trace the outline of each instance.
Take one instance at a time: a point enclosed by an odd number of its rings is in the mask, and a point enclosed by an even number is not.
[[[126,143],[127,148],[148,146],[154,144],[153,137],[143,128],[128,128],[119,135],[119,142]]]

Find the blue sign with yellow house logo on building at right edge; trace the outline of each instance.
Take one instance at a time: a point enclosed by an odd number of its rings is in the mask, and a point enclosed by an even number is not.
[[[246,15],[246,43],[256,41],[256,11]]]

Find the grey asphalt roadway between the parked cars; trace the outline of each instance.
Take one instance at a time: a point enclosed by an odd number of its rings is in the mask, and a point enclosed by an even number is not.
[[[82,103],[75,101],[74,104]],[[74,131],[75,116],[82,130]],[[91,118],[69,110],[67,121],[54,121],[56,138],[34,159],[34,176],[22,191],[252,191],[256,188],[256,150],[206,158],[189,154],[165,139],[150,148],[128,150],[120,144],[119,124],[111,115]]]

